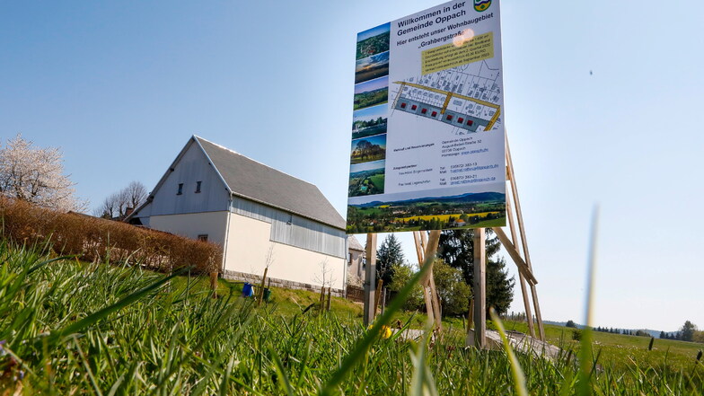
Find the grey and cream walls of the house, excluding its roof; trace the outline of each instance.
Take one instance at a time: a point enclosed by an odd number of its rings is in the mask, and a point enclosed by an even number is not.
[[[345,231],[282,207],[268,207],[263,198],[258,202],[239,197],[237,186],[228,186],[198,139],[189,140],[147,203],[128,220],[219,244],[225,276],[261,276],[269,261],[268,277],[285,284],[319,287],[324,282],[342,290],[348,254]],[[217,154],[223,161],[222,153]]]

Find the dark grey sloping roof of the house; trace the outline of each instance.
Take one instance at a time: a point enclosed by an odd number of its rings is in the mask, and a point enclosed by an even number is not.
[[[233,195],[308,217],[340,230],[345,229],[345,219],[339,216],[321,190],[311,183],[258,163],[200,136],[193,136],[193,139],[203,148]]]

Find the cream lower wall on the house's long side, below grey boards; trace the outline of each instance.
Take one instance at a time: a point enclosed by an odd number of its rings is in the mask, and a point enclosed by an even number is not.
[[[264,274],[268,249],[274,246],[273,263],[268,268],[268,277],[320,286],[321,263],[327,260],[326,268],[330,272],[326,277],[333,279],[330,286],[343,288],[347,267],[344,258],[271,242],[270,237],[271,224],[230,214],[225,270],[261,276]]]

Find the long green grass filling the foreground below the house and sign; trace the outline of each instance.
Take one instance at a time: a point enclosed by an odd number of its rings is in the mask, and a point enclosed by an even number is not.
[[[257,307],[228,282],[213,298],[207,279],[186,273],[77,263],[4,242],[0,262],[2,394],[701,395],[704,385],[698,347],[659,340],[649,353],[642,339],[626,349],[596,334],[597,353],[609,349],[593,372],[591,358],[580,371],[571,341],[556,361],[464,348],[459,319],[432,343],[384,339],[378,330],[394,318],[423,326],[422,315],[398,311],[412,284],[368,330],[359,305],[334,299],[320,312],[314,293],[276,289]]]

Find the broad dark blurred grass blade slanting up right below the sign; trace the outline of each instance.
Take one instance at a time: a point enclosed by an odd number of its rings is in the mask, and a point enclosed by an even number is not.
[[[345,357],[345,360],[342,361],[342,365],[340,365],[339,369],[333,373],[332,376],[330,376],[330,380],[328,380],[328,383],[325,384],[320,392],[321,396],[333,394],[333,390],[339,385],[339,383],[342,383],[342,380],[344,380],[345,377],[352,371],[352,368],[364,358],[366,349],[374,343],[374,339],[376,339],[380,334],[382,326],[391,321],[393,314],[399,311],[403,304],[406,303],[406,299],[412,293],[413,287],[418,284],[420,279],[425,277],[429,268],[432,267],[430,265],[432,258],[429,259],[431,260],[426,260],[425,264],[422,268],[420,268],[418,273],[409,280],[409,283],[400,289],[399,294],[396,295],[391,304],[386,307],[386,310],[379,317],[379,319],[374,322],[372,329],[368,330],[365,336],[357,342],[356,347],[352,349],[347,357]]]

